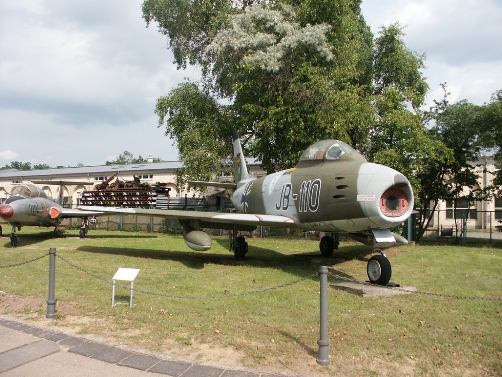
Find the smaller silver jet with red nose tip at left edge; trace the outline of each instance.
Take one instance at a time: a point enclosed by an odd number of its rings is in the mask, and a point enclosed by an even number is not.
[[[80,227],[80,238],[85,238],[89,230],[89,217],[95,222],[94,216],[103,215],[97,211],[81,211],[64,208],[63,186],[65,185],[88,185],[87,182],[72,181],[33,181],[37,184],[57,184],[59,185],[58,198],[48,197],[39,187],[25,183],[14,187],[11,196],[0,204],[0,218],[12,225],[11,246],[17,246],[18,236],[16,228],[21,230],[23,225],[38,225],[44,227],[57,226],[61,220],[69,217],[79,217],[82,219]],[[2,227],[0,227],[0,235]]]

